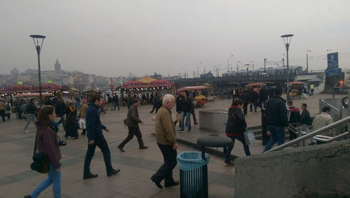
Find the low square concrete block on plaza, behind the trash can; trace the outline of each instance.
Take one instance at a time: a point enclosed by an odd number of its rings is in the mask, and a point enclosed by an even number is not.
[[[213,132],[224,133],[228,115],[218,113],[219,111],[228,111],[223,109],[212,109],[200,111],[200,129],[207,129]]]

